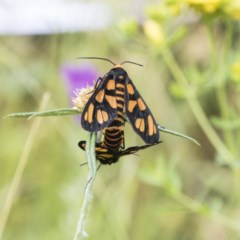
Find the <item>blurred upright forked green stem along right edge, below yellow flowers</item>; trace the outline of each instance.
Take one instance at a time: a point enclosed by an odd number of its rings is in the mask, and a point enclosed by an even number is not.
[[[219,106],[221,118],[224,120],[231,120],[230,113],[230,103],[227,97],[227,86],[226,79],[228,75],[225,74],[225,71],[222,70],[225,66],[225,61],[229,57],[229,53],[232,48],[232,40],[233,40],[233,24],[228,20],[226,23],[226,33],[224,34],[224,39],[222,42],[214,35],[211,29],[211,23],[207,22],[208,28],[208,37],[210,42],[215,43],[211,45],[211,52],[213,55],[217,56],[213,59],[214,70],[215,70],[215,79],[216,79],[216,97],[217,103]],[[220,47],[216,46],[216,43],[220,45]],[[232,129],[222,129],[224,141],[232,152],[233,157],[230,159],[230,165],[233,169],[233,181],[234,181],[234,197],[238,200],[240,199],[240,171],[235,167],[235,160],[237,159],[237,144],[238,141],[235,139],[235,132]]]

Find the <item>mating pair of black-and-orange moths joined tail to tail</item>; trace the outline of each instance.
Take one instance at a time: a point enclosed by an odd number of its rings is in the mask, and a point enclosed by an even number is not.
[[[88,58],[89,59],[89,58]],[[160,143],[157,123],[147,104],[137,91],[122,64],[122,62],[99,78],[95,90],[86,103],[81,118],[82,127],[89,132],[104,132],[104,139],[96,143],[96,158],[101,164],[112,164],[124,155],[136,153],[139,150]],[[135,64],[135,63],[134,63]],[[129,147],[124,150],[124,124],[131,123],[135,132],[147,145]],[[86,141],[80,141],[79,147],[86,148]]]

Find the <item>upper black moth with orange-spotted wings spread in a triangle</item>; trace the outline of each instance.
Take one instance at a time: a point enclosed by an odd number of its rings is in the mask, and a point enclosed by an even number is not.
[[[98,79],[96,89],[83,109],[81,124],[89,132],[103,130],[114,120],[119,124],[123,122],[124,126],[124,114],[143,141],[147,144],[159,142],[159,131],[150,109],[127,72],[121,65],[115,65]]]

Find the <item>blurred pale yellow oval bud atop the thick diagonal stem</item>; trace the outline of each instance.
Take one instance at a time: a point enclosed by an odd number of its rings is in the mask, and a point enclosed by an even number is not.
[[[143,25],[146,37],[154,44],[160,46],[165,43],[165,35],[161,25],[154,20],[147,20]]]

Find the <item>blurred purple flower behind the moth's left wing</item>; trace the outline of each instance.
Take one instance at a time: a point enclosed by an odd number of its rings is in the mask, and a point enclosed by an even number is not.
[[[61,76],[64,79],[69,99],[72,99],[76,97],[77,90],[93,86],[99,75],[92,64],[65,63],[61,67]]]

